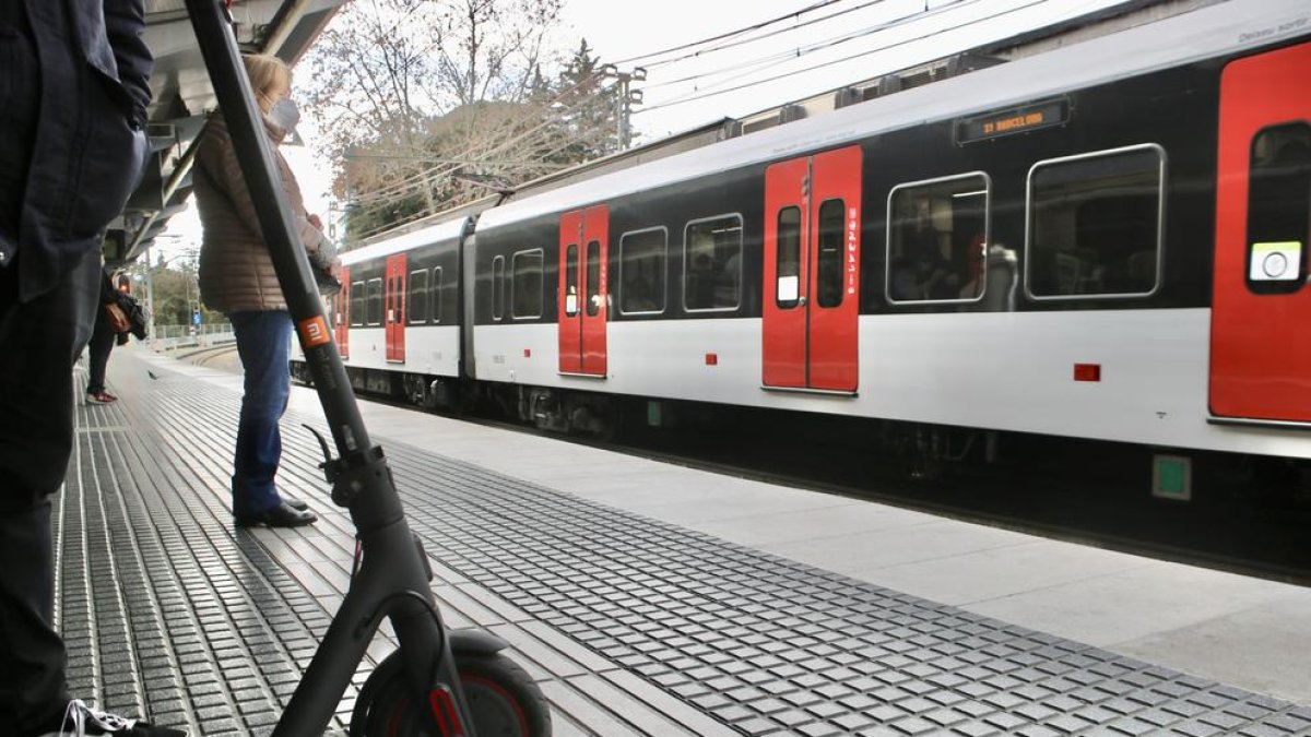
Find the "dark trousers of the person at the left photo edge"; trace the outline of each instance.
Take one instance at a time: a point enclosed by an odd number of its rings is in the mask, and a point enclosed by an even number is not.
[[[0,724],[16,734],[68,700],[64,644],[51,627],[50,496],[73,446],[73,362],[100,302],[100,253],[52,290],[18,303],[0,269]]]

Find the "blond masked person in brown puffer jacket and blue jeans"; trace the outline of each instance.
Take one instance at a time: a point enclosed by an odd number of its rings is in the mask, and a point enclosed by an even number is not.
[[[244,58],[250,88],[274,144],[300,119],[291,101],[291,70],[277,56]],[[274,147],[283,191],[300,240],[321,271],[337,270],[336,250],[305,212],[296,177]],[[201,298],[228,316],[245,372],[232,469],[232,515],[237,526],[296,527],[317,519],[303,501],[278,492],[274,476],[282,459],[278,421],[291,395],[291,313],[278,285],[254,203],[237,163],[222,114],[210,119],[195,156],[195,202],[205,237],[201,244]]]

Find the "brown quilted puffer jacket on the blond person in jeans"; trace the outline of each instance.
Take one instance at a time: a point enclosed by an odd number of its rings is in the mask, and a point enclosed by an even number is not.
[[[282,188],[291,202],[305,253],[311,262],[326,266],[336,257],[332,241],[309,223],[296,177],[277,149],[286,134],[267,121],[265,129],[274,143]],[[278,286],[273,258],[261,235],[254,203],[222,114],[211,118],[205,131],[195,155],[193,180],[201,226],[205,228],[199,282],[206,307],[220,312],[286,309],[287,300]]]

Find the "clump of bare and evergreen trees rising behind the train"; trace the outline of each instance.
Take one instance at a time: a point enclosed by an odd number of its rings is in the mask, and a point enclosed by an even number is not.
[[[343,7],[296,87],[349,201],[349,241],[612,149],[599,59],[553,46],[561,1]]]

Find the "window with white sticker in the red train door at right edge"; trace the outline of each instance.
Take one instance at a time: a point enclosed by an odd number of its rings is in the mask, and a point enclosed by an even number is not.
[[[1311,125],[1272,126],[1252,138],[1247,197],[1247,286],[1291,294],[1307,275],[1311,241]]]

